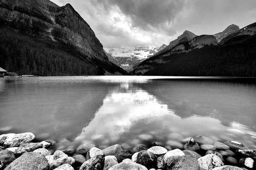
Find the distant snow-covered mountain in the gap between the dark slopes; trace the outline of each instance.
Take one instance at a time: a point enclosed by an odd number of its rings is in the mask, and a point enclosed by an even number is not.
[[[167,45],[163,44],[161,47],[126,47],[113,48],[108,50],[108,59],[120,66],[126,71],[132,71],[140,62],[151,57],[158,51],[165,48]]]

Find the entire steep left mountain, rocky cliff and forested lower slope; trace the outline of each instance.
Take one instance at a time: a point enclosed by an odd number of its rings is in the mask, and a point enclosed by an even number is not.
[[[0,0],[0,31],[0,50],[4,54],[0,66],[8,71],[37,75],[126,74],[109,61],[93,30],[70,4],[59,7],[49,0]],[[19,42],[11,41],[15,39]],[[41,53],[35,55],[38,51]]]

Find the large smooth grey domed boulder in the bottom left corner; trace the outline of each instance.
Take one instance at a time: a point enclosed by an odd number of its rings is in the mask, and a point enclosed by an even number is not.
[[[5,170],[49,170],[49,164],[43,155],[29,152],[15,159]]]

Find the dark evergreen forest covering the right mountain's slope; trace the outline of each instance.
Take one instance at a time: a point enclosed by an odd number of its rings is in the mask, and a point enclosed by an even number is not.
[[[255,47],[256,34],[239,36],[224,45],[151,57],[140,63],[135,71],[149,68],[143,75],[161,76],[256,77]]]

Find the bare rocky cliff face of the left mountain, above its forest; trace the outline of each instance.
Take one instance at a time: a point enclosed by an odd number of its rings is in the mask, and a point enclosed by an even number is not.
[[[68,45],[79,53],[79,57],[73,53],[74,57],[93,65],[96,74],[125,74],[108,60],[93,30],[70,4],[59,7],[49,0],[0,0],[0,22],[2,28],[13,28],[19,35],[37,37],[44,43]],[[14,62],[15,58],[11,58]]]

